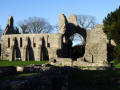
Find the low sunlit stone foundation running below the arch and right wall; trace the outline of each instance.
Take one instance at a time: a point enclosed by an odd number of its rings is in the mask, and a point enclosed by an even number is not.
[[[77,66],[85,70],[103,70],[110,67],[107,62],[91,63],[84,61],[82,58],[79,58],[76,61],[71,58],[55,58],[49,63],[54,66]]]

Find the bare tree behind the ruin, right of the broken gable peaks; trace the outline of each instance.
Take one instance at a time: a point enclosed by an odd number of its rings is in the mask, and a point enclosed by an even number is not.
[[[81,28],[90,30],[96,25],[96,19],[89,15],[77,15],[77,23]]]

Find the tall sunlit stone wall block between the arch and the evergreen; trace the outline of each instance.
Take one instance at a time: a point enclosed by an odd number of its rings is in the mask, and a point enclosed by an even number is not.
[[[84,58],[92,63],[107,62],[107,37],[102,25],[87,31]]]

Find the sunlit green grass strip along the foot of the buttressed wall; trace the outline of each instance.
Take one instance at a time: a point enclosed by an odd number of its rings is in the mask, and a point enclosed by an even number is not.
[[[6,66],[27,66],[30,64],[45,64],[48,61],[0,61],[0,67]]]

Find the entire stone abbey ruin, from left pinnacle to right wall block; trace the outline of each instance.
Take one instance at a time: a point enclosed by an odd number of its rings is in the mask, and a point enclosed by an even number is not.
[[[14,20],[10,16],[8,24],[1,37],[1,60],[41,61],[51,60],[51,64],[74,66],[106,66],[107,37],[102,25],[96,25],[92,30],[78,26],[76,16],[68,18],[59,15],[59,33],[57,34],[20,34],[14,29]],[[69,57],[69,38],[75,33],[85,40],[85,51],[81,58],[75,61]]]

